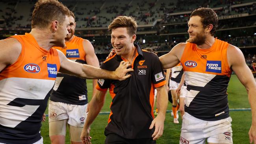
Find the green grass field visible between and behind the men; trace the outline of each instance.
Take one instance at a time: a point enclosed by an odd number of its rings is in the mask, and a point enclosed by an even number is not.
[[[88,97],[91,99],[91,80],[88,80]],[[228,100],[230,109],[250,108],[248,102],[248,96],[245,88],[236,75],[232,75],[228,87]],[[106,96],[106,103],[102,108],[102,112],[108,112],[111,97],[109,94]],[[168,110],[171,110],[171,103],[168,105]],[[46,114],[48,109],[46,110]],[[233,143],[234,144],[249,144],[248,131],[252,122],[250,111],[230,111],[232,117],[232,130],[233,130]],[[165,128],[163,136],[157,140],[158,144],[179,144],[181,119],[179,118],[180,124],[173,123],[173,117],[171,113],[166,114]],[[91,126],[91,137],[93,144],[104,144],[104,128],[108,124],[108,114],[100,114]],[[44,138],[44,144],[50,144],[50,138],[48,135],[48,117],[47,121],[42,124],[41,135]],[[66,144],[70,144],[69,134],[66,135]]]

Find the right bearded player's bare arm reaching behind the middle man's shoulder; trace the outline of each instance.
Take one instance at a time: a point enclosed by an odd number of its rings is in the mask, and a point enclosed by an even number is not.
[[[186,43],[179,43],[174,46],[168,54],[159,57],[162,68],[167,69],[178,65],[178,63],[180,63],[180,59],[182,57],[185,46]]]

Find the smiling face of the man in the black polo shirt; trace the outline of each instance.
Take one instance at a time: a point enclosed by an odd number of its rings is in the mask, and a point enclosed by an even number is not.
[[[111,44],[117,55],[126,55],[132,49],[132,36],[128,34],[127,28],[115,28],[111,31]]]

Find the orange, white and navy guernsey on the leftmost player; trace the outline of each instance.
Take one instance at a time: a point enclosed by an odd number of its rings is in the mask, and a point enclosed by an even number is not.
[[[0,142],[32,144],[41,138],[41,120],[59,57],[57,50],[41,48],[29,33],[12,37],[22,50],[17,61],[0,72]]]

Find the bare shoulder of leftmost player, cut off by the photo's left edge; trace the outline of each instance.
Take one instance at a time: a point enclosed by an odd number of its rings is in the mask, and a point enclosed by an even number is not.
[[[21,44],[15,38],[4,39],[0,41],[0,72],[15,61],[17,61],[20,52]]]

